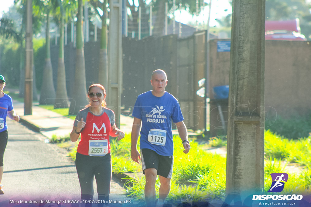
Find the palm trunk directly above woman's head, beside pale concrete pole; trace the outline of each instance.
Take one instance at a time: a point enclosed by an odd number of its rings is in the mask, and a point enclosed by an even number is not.
[[[104,87],[108,87],[108,55],[107,55],[107,0],[103,3],[102,10],[104,11],[101,17],[102,29],[100,38],[100,51],[99,51],[99,74],[98,82]],[[96,25],[95,25],[96,26]]]

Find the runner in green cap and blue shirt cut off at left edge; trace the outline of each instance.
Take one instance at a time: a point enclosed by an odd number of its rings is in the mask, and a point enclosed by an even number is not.
[[[13,109],[12,98],[3,92],[5,87],[5,79],[0,75],[0,194],[4,194],[1,185],[3,175],[3,154],[7,147],[7,116],[10,119],[19,121],[19,116],[16,115]]]

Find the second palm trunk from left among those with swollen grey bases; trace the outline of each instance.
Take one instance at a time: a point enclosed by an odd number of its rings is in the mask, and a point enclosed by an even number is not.
[[[68,96],[66,87],[66,73],[64,62],[64,16],[61,14],[60,23],[60,37],[59,37],[59,52],[58,52],[58,70],[57,70],[57,90],[54,108],[67,108]]]

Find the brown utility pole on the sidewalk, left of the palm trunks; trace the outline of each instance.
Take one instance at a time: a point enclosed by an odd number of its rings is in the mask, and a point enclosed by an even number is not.
[[[32,0],[27,0],[26,20],[26,65],[25,65],[25,96],[24,115],[32,114],[33,98],[33,48],[32,48]]]

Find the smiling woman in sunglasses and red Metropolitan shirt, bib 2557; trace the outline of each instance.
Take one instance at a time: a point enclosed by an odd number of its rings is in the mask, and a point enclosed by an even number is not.
[[[121,140],[124,133],[115,125],[114,112],[105,108],[106,91],[100,84],[89,87],[90,103],[79,111],[70,139],[76,142],[81,134],[76,155],[76,169],[81,187],[81,202],[91,206],[96,179],[99,206],[109,201],[111,181],[111,155],[109,136]]]

